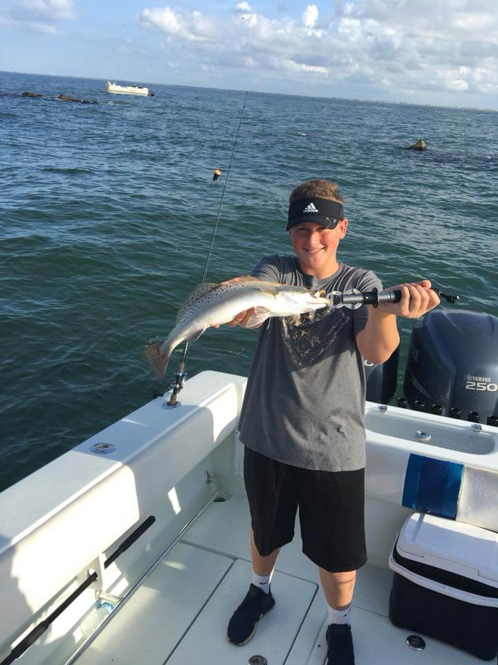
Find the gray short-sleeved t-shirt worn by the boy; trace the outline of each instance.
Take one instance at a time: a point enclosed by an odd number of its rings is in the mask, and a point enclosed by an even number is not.
[[[369,270],[340,264],[325,279],[306,275],[295,256],[267,256],[252,275],[329,291],[382,289]],[[268,319],[259,330],[239,420],[251,450],[305,469],[352,471],[365,467],[365,369],[356,333],[366,305],[324,308]]]

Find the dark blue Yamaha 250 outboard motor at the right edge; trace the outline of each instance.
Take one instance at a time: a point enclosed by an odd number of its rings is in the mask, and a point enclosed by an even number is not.
[[[498,318],[441,308],[417,321],[404,392],[410,409],[498,425]]]

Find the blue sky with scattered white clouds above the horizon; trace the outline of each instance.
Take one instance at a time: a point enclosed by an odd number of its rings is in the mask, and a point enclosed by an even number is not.
[[[0,0],[0,69],[498,109],[498,0]]]

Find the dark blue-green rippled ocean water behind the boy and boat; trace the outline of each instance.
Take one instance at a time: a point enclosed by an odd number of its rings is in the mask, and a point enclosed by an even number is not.
[[[151,399],[142,348],[201,278],[244,93],[150,87],[115,96],[102,80],[0,73],[0,489]],[[340,260],[385,286],[428,277],[498,315],[497,121],[250,92],[208,280],[291,253],[288,193],[324,177],[349,218]],[[406,149],[419,138],[427,152]],[[400,320],[398,394],[412,324]],[[255,339],[209,330],[187,372],[246,375]]]

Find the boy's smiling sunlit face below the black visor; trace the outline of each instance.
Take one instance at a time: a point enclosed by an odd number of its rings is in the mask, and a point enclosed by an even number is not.
[[[291,242],[304,272],[319,278],[335,272],[335,254],[340,240],[346,235],[346,229],[346,218],[341,220],[335,229],[326,229],[314,222],[302,222],[292,227],[289,231]]]

